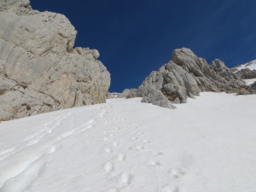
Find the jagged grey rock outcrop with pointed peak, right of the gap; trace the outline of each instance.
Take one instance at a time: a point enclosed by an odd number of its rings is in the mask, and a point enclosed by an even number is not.
[[[160,67],[159,71],[152,72],[143,81],[137,95],[147,100],[148,95],[154,90],[160,90],[169,101],[183,103],[188,96],[198,96],[201,91],[247,94],[244,86],[242,79],[236,73],[232,73],[223,61],[214,60],[210,66],[192,50],[182,48],[175,49],[171,61]]]

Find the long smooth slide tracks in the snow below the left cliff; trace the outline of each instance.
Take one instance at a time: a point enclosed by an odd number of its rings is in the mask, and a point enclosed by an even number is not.
[[[43,157],[54,154],[60,148],[61,140],[66,137],[71,137],[74,134],[82,133],[95,124],[94,119],[90,119],[86,123],[77,126],[75,129],[71,129],[69,131],[65,131],[61,133],[59,137],[47,140],[50,134],[57,129],[61,129],[61,125],[65,123],[65,120],[73,121],[73,113],[70,113],[67,116],[58,117],[49,123],[44,124],[44,129],[38,131],[37,133],[30,135],[23,139],[23,143],[26,143],[26,148],[20,148],[16,150],[16,148],[7,148],[0,151],[0,160],[4,160],[6,158],[11,158],[12,155],[21,155],[21,160],[11,161],[8,165],[3,167],[0,172],[0,192],[23,192],[29,188],[30,185],[40,176],[42,172],[44,172],[44,159]],[[44,142],[43,145],[40,145],[38,148],[34,150],[37,155],[28,155],[27,149],[32,147],[32,145],[36,145],[40,142]],[[38,151],[37,151],[38,150]],[[22,156],[22,154],[24,154]]]

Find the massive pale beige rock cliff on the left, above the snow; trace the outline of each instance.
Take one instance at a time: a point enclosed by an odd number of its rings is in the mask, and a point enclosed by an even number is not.
[[[0,120],[105,102],[110,74],[76,34],[64,15],[0,0]]]

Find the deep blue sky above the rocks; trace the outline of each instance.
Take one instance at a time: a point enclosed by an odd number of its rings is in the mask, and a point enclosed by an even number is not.
[[[31,0],[32,8],[66,15],[75,46],[98,49],[111,73],[110,91],[137,88],[170,60],[192,49],[228,67],[256,59],[255,0]]]

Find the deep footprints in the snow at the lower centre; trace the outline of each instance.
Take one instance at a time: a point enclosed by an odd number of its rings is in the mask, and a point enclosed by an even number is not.
[[[147,144],[150,143],[150,141],[146,138],[143,137],[143,132],[138,131],[138,128],[136,125],[130,125],[127,126],[125,123],[117,123],[115,125],[115,128],[112,131],[103,131],[104,137],[103,141],[105,143],[108,143],[108,147],[104,148],[104,151],[107,155],[110,157],[113,157],[111,160],[106,162],[103,166],[103,171],[108,177],[114,177],[113,181],[114,183],[112,184],[113,187],[107,190],[107,192],[121,192],[122,189],[125,189],[129,187],[129,185],[132,183],[133,178],[135,177],[129,170],[127,172],[119,172],[116,170],[115,166],[117,166],[119,163],[125,163],[125,160],[127,158],[126,154],[124,153],[119,153],[118,147],[122,146],[122,143],[119,143],[116,141],[116,137],[114,132],[119,131],[122,129],[134,129],[132,136],[131,136],[131,142],[130,147],[128,147],[126,153],[129,156],[129,151],[137,151],[140,152],[144,149],[147,148]],[[118,132],[116,132],[118,133]],[[122,148],[124,149],[124,148]],[[150,151],[150,150],[149,150]],[[164,155],[160,151],[150,151],[151,156],[153,157],[151,160],[148,160],[148,162],[145,162],[145,165],[148,166],[148,168],[154,168],[158,169],[160,168],[161,162],[160,160],[157,160],[160,155]],[[115,172],[112,174],[112,172]],[[188,192],[186,189],[183,187],[179,187],[177,185],[178,179],[182,178],[185,176],[188,171],[186,169],[182,168],[177,168],[177,167],[171,167],[168,170],[166,170],[170,177],[170,184],[166,183],[166,185],[161,186],[159,189],[155,189],[155,192]],[[176,183],[177,182],[177,183]],[[125,190],[126,191],[126,190]]]

